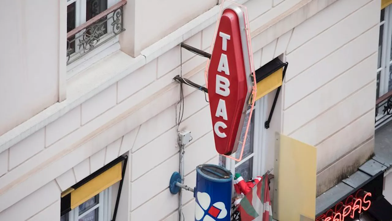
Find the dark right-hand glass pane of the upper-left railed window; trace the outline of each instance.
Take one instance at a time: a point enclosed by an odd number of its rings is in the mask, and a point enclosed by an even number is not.
[[[107,9],[107,0],[87,0],[86,2],[86,21],[94,18]],[[96,25],[92,25],[91,29],[87,29],[87,33],[99,38],[107,33],[106,17],[98,20]],[[96,36],[97,35],[97,36]]]

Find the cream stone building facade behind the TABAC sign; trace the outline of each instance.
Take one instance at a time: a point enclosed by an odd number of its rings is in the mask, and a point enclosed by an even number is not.
[[[274,167],[276,132],[317,148],[317,196],[367,162],[376,111],[384,117],[376,97],[392,89],[387,1],[236,1],[248,9],[255,69],[288,63],[268,129],[277,89],[256,101],[240,162],[216,153],[207,95],[173,81],[205,85],[207,58],[180,43],[210,52],[220,2],[6,2],[0,26],[14,31],[1,37],[0,220],[178,220],[168,184],[183,130],[190,186],[205,163],[262,175]],[[194,219],[191,192],[181,204]]]

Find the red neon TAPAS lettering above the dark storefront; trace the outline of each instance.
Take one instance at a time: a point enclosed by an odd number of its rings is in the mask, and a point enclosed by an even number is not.
[[[370,192],[364,192],[365,196],[359,197],[359,191],[355,196],[348,196],[346,200],[336,204],[334,210],[330,209],[325,214],[319,216],[316,221],[345,221],[346,217],[354,219],[356,214],[360,214],[370,208],[372,204]]]

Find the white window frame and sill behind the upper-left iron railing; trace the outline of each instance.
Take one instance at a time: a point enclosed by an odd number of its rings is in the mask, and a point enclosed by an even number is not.
[[[75,2],[75,28],[82,25],[83,23],[87,22],[86,17],[86,9],[87,9],[87,0],[65,0],[67,1],[67,7],[70,4],[73,4]],[[107,2],[107,9],[115,5],[116,3],[120,2],[120,0],[106,0]],[[111,17],[114,12],[109,13],[107,17]],[[110,22],[107,22],[107,30],[110,30],[112,28]],[[80,31],[78,34],[75,35],[75,38],[78,38],[85,29]],[[100,41],[103,41],[105,43],[102,43],[98,47],[96,47],[94,50],[92,50],[89,53],[83,54],[81,57],[78,57],[73,61],[72,63],[66,65],[67,68],[67,74],[66,74],[66,79],[70,79],[73,77],[75,74],[78,74],[79,72],[82,72],[89,66],[91,66],[93,63],[96,61],[102,59],[103,57],[112,54],[113,52],[120,50],[119,46],[119,36],[116,35],[113,38],[109,39],[110,36],[108,34],[104,34],[101,38]],[[118,44],[118,47],[113,47],[114,45]],[[76,47],[76,41],[75,41],[75,52],[78,53],[79,49]],[[73,53],[73,54],[74,54]]]

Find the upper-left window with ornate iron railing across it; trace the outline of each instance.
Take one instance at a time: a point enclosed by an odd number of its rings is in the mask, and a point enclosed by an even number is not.
[[[67,0],[67,65],[98,46],[109,47],[124,31],[125,0]],[[106,43],[106,44],[105,44]]]

